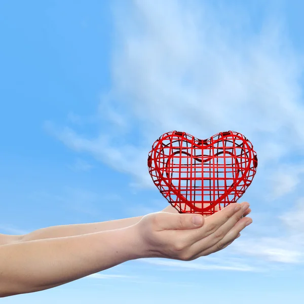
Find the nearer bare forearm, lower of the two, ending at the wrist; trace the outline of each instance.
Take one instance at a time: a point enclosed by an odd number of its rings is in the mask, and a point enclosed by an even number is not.
[[[0,296],[52,288],[143,257],[140,245],[130,226],[0,246]]]

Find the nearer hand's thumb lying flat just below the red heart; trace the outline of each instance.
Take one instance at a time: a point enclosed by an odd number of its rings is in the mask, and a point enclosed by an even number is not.
[[[163,229],[195,229],[204,224],[201,214],[160,212],[159,224]]]

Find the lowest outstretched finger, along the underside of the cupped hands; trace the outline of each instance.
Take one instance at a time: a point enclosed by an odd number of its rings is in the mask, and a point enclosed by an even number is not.
[[[242,218],[239,220],[239,222],[225,235],[224,238],[222,238],[220,241],[218,241],[213,246],[209,247],[206,250],[203,250],[199,256],[203,255],[209,255],[211,253],[217,252],[219,250],[222,250],[232,244],[240,235],[240,232],[245,229],[246,226],[250,225],[252,223],[251,218]],[[202,246],[202,244],[201,244]],[[193,248],[194,250],[196,248]]]

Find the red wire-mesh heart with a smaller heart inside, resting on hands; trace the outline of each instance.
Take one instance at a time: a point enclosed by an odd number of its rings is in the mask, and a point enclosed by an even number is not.
[[[211,215],[236,203],[256,168],[253,145],[233,131],[204,140],[185,132],[168,132],[148,154],[155,185],[179,213]]]

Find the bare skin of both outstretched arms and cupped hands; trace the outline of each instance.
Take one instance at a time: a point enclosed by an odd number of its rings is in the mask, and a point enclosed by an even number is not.
[[[230,245],[252,222],[244,217],[248,207],[231,204],[203,217],[168,206],[140,217],[0,235],[0,297],[56,287],[128,260],[209,255]]]

